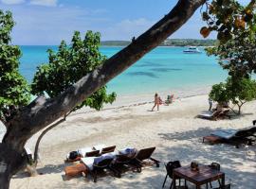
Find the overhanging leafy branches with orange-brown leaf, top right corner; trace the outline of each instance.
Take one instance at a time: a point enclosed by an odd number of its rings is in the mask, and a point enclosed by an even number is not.
[[[208,48],[209,55],[218,56],[220,64],[233,77],[249,77],[256,73],[256,16],[255,0],[247,6],[237,0],[212,0],[202,12],[208,26],[201,28],[207,37],[217,31],[219,43]]]

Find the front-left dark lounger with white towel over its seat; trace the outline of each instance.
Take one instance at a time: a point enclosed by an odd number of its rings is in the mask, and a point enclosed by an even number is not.
[[[90,174],[93,177],[93,181],[97,182],[98,173],[104,169],[109,169],[113,171],[116,175],[117,171],[110,166],[110,164],[113,162],[115,158],[116,154],[114,152],[106,153],[99,157],[82,158],[81,162],[87,168],[85,177],[87,177],[87,175]]]

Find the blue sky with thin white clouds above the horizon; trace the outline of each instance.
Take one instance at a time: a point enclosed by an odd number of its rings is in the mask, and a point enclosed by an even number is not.
[[[75,30],[100,31],[101,40],[131,40],[167,14],[177,0],[0,0],[16,25],[12,43],[52,45],[70,42]],[[170,38],[203,39],[197,10]],[[210,39],[214,39],[212,34]]]

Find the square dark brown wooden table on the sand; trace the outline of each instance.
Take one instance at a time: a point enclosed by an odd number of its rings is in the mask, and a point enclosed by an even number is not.
[[[212,169],[208,165],[199,165],[199,171],[192,171],[191,166],[182,166],[175,168],[173,174],[174,189],[176,179],[188,180],[195,184],[196,189],[200,189],[201,185],[213,180],[221,180],[221,185],[225,185],[225,173]]]

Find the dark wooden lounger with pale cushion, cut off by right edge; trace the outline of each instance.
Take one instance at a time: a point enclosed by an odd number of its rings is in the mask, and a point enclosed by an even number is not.
[[[256,127],[245,129],[219,129],[203,137],[203,143],[228,143],[239,147],[241,144],[252,145],[256,141]]]

